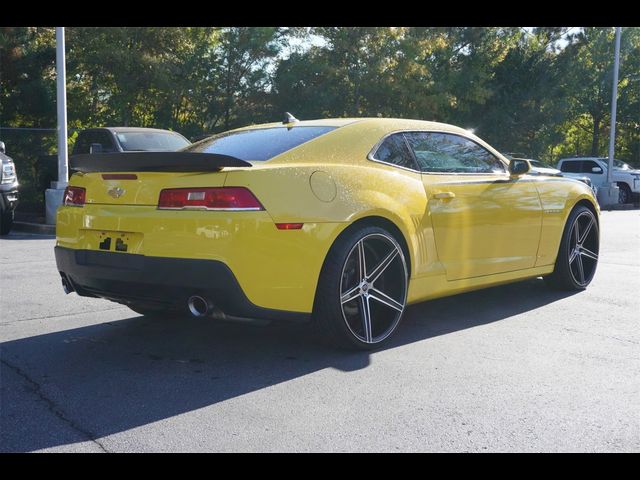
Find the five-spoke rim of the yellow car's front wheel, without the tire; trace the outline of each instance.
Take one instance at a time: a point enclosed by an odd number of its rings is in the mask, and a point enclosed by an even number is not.
[[[568,243],[569,272],[579,286],[585,287],[598,265],[599,239],[593,213],[584,211],[576,217]]]

